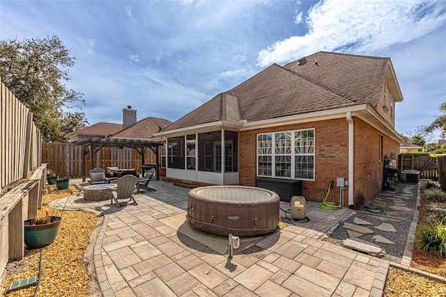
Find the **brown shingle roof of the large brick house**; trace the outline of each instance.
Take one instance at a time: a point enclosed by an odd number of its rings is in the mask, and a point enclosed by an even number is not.
[[[271,65],[162,132],[217,121],[256,122],[361,104],[376,109],[385,80],[392,85],[394,100],[401,101],[390,58],[321,51],[306,57],[305,62]]]

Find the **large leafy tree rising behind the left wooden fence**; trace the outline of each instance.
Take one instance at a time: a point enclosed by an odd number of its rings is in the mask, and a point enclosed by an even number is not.
[[[63,84],[70,79],[66,68],[74,61],[56,35],[0,41],[1,81],[33,113],[44,141],[63,141],[67,133],[88,125],[83,112],[63,111],[85,104],[82,93]]]

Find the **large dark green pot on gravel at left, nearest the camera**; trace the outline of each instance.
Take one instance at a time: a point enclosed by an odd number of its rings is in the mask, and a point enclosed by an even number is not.
[[[24,240],[29,250],[48,246],[56,239],[62,218],[60,216],[50,218],[51,223],[43,225],[33,225],[33,218],[24,220]]]

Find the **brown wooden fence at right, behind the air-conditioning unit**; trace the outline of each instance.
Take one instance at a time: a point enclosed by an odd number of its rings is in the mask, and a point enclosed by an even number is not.
[[[400,154],[398,164],[399,172],[407,169],[418,170],[420,179],[438,179],[438,158]]]

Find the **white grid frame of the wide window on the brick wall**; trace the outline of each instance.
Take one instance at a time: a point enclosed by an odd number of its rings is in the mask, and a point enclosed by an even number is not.
[[[295,152],[295,132],[302,132],[302,131],[312,131],[313,132],[313,152],[312,153],[302,153],[298,154]],[[276,154],[275,148],[276,148],[276,134],[284,134],[284,133],[291,133],[291,153],[290,154]],[[268,135],[270,134],[272,136],[272,150],[270,154],[259,154],[259,136]],[[314,128],[310,129],[298,129],[298,130],[291,130],[291,131],[276,131],[276,132],[267,132],[267,133],[259,133],[256,134],[256,175],[259,177],[277,177],[282,179],[301,179],[301,180],[310,180],[314,181],[314,175],[316,172],[316,161],[315,161],[315,150],[316,150],[316,143],[315,143],[315,137],[314,137]],[[279,141],[279,140],[278,140]],[[259,156],[271,156],[271,175],[260,175],[259,174]],[[291,156],[291,177],[282,177],[282,176],[276,176],[276,156]],[[295,157],[296,156],[312,156],[313,157],[313,178],[302,178],[302,177],[295,177]]]

